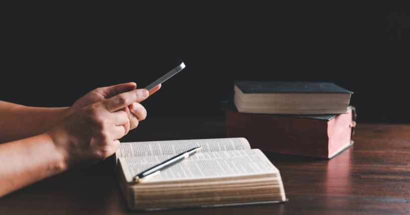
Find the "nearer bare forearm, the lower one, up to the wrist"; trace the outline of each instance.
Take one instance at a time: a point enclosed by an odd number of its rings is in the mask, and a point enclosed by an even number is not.
[[[66,168],[64,153],[46,133],[0,144],[0,196]]]

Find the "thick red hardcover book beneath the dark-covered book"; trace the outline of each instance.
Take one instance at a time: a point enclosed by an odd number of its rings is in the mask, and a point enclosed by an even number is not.
[[[245,137],[252,148],[331,159],[353,144],[356,113],[274,115],[226,111],[228,137]]]

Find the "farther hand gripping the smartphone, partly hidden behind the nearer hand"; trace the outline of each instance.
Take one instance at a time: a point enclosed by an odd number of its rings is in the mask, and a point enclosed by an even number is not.
[[[152,89],[150,91],[150,95],[157,92],[160,88],[161,84]],[[136,84],[134,82],[118,84],[109,87],[96,88],[93,91],[85,94],[83,97],[79,98],[77,101],[75,101],[74,104],[69,109],[67,109],[64,115],[65,117],[69,116],[70,114],[74,113],[75,111],[83,107],[111,98],[120,93],[128,92],[130,90],[135,89]],[[127,107],[123,107],[121,110],[128,115],[129,119],[129,123],[124,125],[125,134],[127,134],[130,129],[136,128],[136,126],[138,126],[139,124],[139,121],[145,119],[145,117],[143,116],[147,115],[147,111],[145,110],[145,108],[141,104],[136,102],[130,104]]]

